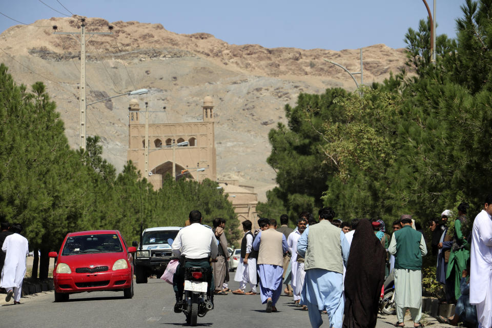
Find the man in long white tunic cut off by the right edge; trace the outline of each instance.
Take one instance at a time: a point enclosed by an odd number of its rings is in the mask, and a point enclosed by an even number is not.
[[[471,233],[470,304],[477,306],[479,328],[492,327],[492,195],[475,217]]]

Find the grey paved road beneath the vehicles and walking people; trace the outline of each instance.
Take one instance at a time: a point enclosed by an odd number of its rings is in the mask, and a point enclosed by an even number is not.
[[[237,283],[231,283],[231,289]],[[123,292],[95,292],[70,295],[65,303],[54,303],[53,292],[21,299],[22,304],[7,304],[0,294],[0,327],[180,327],[185,316],[173,312],[172,286],[160,279],[135,284],[133,299],[124,299]],[[265,313],[259,295],[215,296],[215,309],[198,326],[216,327],[309,327],[308,312],[296,308],[288,296],[280,297],[278,313]],[[378,328],[392,327],[395,316],[381,316]],[[412,322],[406,322],[412,326]],[[329,324],[325,319],[323,327]],[[439,325],[433,325],[433,328]]]

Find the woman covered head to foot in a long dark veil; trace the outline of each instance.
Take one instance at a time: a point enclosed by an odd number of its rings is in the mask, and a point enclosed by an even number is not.
[[[386,251],[367,219],[354,233],[345,274],[343,328],[374,328],[384,282]]]

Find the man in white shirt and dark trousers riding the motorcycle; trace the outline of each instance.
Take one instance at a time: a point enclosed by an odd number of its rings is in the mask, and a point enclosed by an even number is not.
[[[207,270],[207,283],[209,286],[207,296],[213,304],[213,290],[215,287],[212,283],[213,274],[210,258],[215,259],[217,257],[217,239],[212,229],[201,224],[202,217],[199,211],[191,211],[189,219],[190,226],[182,228],[172,244],[173,255],[177,258],[184,256],[186,260],[183,267],[180,261],[174,274],[173,288],[176,294],[175,313],[181,312],[181,308],[183,307],[185,268],[199,267]]]

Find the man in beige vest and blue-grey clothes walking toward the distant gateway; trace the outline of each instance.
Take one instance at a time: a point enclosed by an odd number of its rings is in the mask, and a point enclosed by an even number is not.
[[[282,293],[283,254],[288,245],[285,236],[276,231],[277,221],[270,219],[268,229],[260,231],[253,241],[258,252],[258,275],[262,304],[267,303],[267,312],[276,312],[275,304]]]

